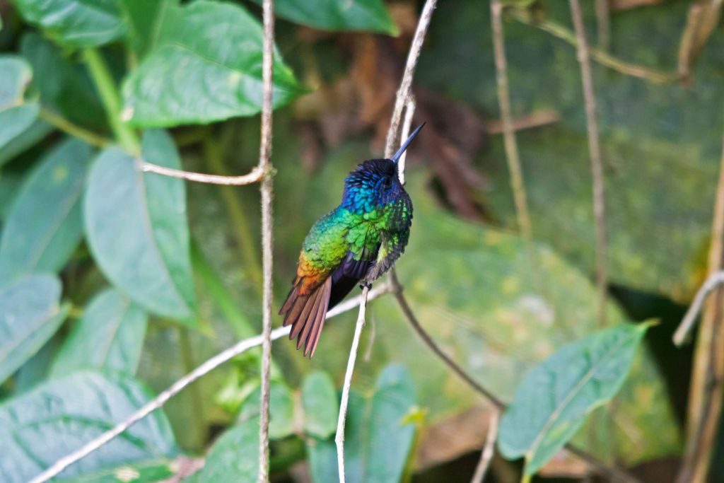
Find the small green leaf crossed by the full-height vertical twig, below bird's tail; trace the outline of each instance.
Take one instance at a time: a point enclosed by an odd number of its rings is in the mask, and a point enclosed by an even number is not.
[[[239,421],[259,416],[261,388],[256,387],[241,407]],[[283,382],[273,380],[269,387],[269,437],[281,440],[294,432],[294,398],[289,387]]]

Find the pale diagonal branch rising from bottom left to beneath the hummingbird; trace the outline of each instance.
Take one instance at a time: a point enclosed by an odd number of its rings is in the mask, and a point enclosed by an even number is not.
[[[370,290],[369,297],[367,298],[368,301],[371,301],[374,298],[378,298],[380,295],[384,295],[385,293],[389,293],[391,291],[391,288],[386,285],[381,285],[376,290]],[[340,303],[340,305],[332,308],[329,312],[327,312],[327,319],[331,319],[334,316],[340,315],[343,312],[350,311],[353,308],[356,308],[361,303],[362,298],[361,296],[351,298],[350,300],[346,301],[345,303]],[[279,327],[277,329],[274,329],[271,331],[271,340],[277,340],[281,337],[285,337],[289,335],[289,332],[291,330],[290,326],[287,327]],[[153,411],[156,411],[156,409],[162,408],[164,404],[171,398],[174,397],[174,395],[177,395],[179,392],[181,392],[186,386],[190,385],[192,382],[194,382],[199,377],[202,377],[206,374],[208,374],[210,371],[213,371],[216,369],[216,367],[221,366],[224,364],[224,362],[229,361],[231,358],[234,358],[238,356],[240,353],[245,352],[246,350],[249,350],[251,348],[255,348],[258,345],[261,345],[261,340],[263,339],[262,335],[255,335],[254,337],[250,337],[248,339],[240,340],[235,345],[232,345],[230,348],[216,354],[216,356],[213,356],[209,359],[207,359],[203,364],[198,366],[193,371],[186,374],[181,379],[174,382],[171,387],[169,387],[164,392],[161,392],[156,398],[153,398],[153,400],[148,401],[145,406],[140,408],[135,413],[132,413],[128,419],[123,421],[122,423],[117,424],[113,429],[109,429],[108,431],[104,432],[104,434],[101,434],[98,436],[95,440],[92,440],[88,442],[86,445],[83,445],[82,448],[79,448],[78,450],[74,451],[73,453],[70,453],[70,455],[64,456],[63,458],[60,458],[58,461],[53,463],[52,466],[50,466],[48,469],[43,471],[41,474],[38,474],[38,476],[35,476],[32,480],[30,480],[30,483],[43,483],[47,482],[49,479],[53,478],[57,474],[59,474],[61,471],[66,469],[68,466],[70,466],[72,463],[75,463],[76,461],[80,460],[81,458],[85,458],[85,456],[89,455],[90,453],[93,453],[93,451],[97,450],[98,448],[101,448],[101,446],[105,445],[106,442],[109,442],[114,437],[117,437],[122,432],[125,432],[126,429],[132,427],[134,424],[136,424],[141,419],[145,418],[149,414],[151,414]]]

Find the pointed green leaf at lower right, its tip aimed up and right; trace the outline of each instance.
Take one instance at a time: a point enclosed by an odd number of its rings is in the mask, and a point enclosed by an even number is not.
[[[587,413],[626,379],[649,324],[620,325],[566,345],[532,369],[500,421],[505,458],[526,457],[534,474],[573,437]]]

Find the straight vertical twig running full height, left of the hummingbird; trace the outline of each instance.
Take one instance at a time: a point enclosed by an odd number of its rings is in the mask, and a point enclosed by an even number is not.
[[[259,417],[259,473],[258,482],[269,481],[269,382],[271,379],[271,93],[274,75],[274,1],[264,0],[264,59],[262,79],[264,98],[261,104],[261,146],[259,168],[261,180],[261,256],[264,273],[264,294],[261,343],[261,408]]]

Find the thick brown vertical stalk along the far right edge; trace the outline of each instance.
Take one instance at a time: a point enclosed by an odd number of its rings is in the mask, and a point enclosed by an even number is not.
[[[715,279],[724,264],[724,138],[719,168],[719,182],[714,202],[712,241],[707,272]],[[702,293],[702,290],[699,292]],[[719,418],[724,400],[724,329],[722,310],[724,290],[715,288],[715,296],[704,306],[694,352],[694,369],[689,390],[689,411],[686,420],[686,447],[677,483],[704,482],[715,450]],[[701,299],[704,295],[702,294]],[[694,302],[700,297],[697,293]],[[692,304],[692,308],[694,304]],[[692,316],[691,319],[694,317]],[[681,335],[683,338],[683,335]]]

